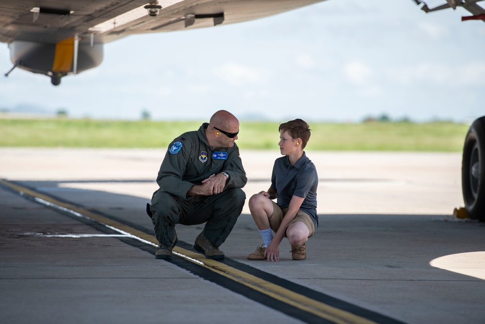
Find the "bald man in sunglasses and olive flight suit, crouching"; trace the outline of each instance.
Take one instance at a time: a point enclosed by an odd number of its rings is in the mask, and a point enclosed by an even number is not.
[[[239,120],[220,110],[198,131],[184,133],[169,146],[157,177],[151,214],[159,241],[155,257],[168,259],[177,244],[175,224],[206,222],[194,250],[207,258],[222,259],[219,246],[231,232],[246,199],[247,182],[238,139]]]

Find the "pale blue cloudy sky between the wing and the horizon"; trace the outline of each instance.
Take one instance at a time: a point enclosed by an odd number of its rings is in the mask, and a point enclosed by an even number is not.
[[[444,2],[444,1],[443,1]],[[428,2],[435,6],[440,2]],[[425,14],[411,0],[328,0],[232,25],[134,35],[105,44],[95,69],[63,79],[0,77],[0,108],[71,117],[358,122],[485,115],[485,23],[458,8]],[[12,67],[0,44],[0,72]]]

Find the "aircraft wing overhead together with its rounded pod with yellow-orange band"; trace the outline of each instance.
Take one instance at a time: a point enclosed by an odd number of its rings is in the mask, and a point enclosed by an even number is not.
[[[14,68],[59,85],[61,77],[99,65],[104,43],[128,35],[242,22],[323,0],[145,1],[1,0],[0,42],[9,44]]]

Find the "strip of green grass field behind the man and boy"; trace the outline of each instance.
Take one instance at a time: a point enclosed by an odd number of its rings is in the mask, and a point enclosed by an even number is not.
[[[0,147],[166,148],[200,121],[0,119]],[[307,150],[461,152],[469,125],[452,122],[312,123]],[[277,122],[241,121],[241,149],[278,149]]]

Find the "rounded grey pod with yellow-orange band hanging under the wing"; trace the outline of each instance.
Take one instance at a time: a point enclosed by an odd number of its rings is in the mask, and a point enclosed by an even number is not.
[[[48,75],[53,85],[59,85],[62,77],[96,68],[103,60],[102,44],[76,45],[71,37],[57,44],[13,41],[8,46],[16,67]]]

